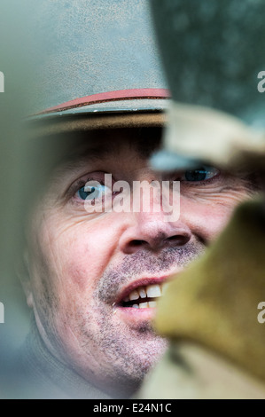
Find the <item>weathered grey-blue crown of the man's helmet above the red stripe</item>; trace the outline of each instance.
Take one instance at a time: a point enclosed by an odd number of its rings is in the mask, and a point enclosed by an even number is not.
[[[148,0],[45,0],[32,18],[32,114],[106,91],[167,88]]]

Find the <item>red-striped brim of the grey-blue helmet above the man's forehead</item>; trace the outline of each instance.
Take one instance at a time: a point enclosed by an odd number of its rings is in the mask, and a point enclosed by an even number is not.
[[[164,126],[169,92],[165,89],[120,90],[76,98],[28,118],[34,135]]]

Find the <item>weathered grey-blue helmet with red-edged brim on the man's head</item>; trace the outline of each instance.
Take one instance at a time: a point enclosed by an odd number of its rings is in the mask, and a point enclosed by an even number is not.
[[[163,123],[169,92],[148,0],[46,0],[32,15],[30,120],[42,132]]]

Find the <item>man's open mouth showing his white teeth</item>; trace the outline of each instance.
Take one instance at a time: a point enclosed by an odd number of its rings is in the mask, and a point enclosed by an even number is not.
[[[155,308],[157,301],[164,294],[168,283],[151,284],[136,287],[117,305],[122,308],[147,309]]]

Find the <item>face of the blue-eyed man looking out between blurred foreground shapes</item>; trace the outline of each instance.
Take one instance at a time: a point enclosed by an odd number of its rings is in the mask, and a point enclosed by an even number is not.
[[[251,185],[209,167],[157,174],[148,165],[152,137],[146,133],[101,133],[92,142],[53,172],[36,206],[27,302],[59,360],[122,395],[137,388],[166,348],[152,330],[163,283],[202,254]],[[166,222],[161,210],[89,213],[84,187],[97,181],[98,195],[104,194],[105,174],[129,185],[180,181],[179,219]]]

